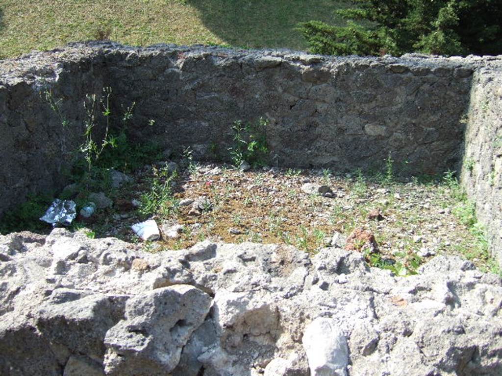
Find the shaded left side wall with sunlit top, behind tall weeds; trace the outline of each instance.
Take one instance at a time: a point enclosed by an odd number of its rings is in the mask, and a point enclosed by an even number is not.
[[[0,62],[0,216],[30,194],[51,193],[68,179],[82,143],[86,94],[99,93],[103,58],[87,54],[35,54]],[[50,90],[69,121],[44,99]]]

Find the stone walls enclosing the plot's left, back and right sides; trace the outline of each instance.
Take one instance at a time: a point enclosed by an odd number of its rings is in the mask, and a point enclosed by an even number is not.
[[[499,244],[500,160],[487,140],[494,140],[494,126],[500,129],[501,61],[113,43],[5,60],[0,216],[30,193],[57,191],[66,183],[71,153],[82,142],[85,94],[110,86],[114,112],[136,103],[129,131],[137,140],[178,150],[191,146],[200,158],[214,157],[214,147],[228,158],[234,121],[261,116],[269,120],[270,163],[279,166],[353,171],[380,168],[391,155],[397,169],[417,175],[459,169],[465,151],[464,159],[478,161],[464,170],[465,185]],[[47,89],[62,99],[70,123],[65,129],[40,99]]]

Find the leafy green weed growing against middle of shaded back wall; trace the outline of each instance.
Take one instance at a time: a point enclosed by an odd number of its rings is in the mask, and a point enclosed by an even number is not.
[[[239,166],[247,162],[253,167],[264,166],[269,159],[266,128],[268,120],[260,118],[257,122],[233,123],[234,145],[229,148],[232,163]]]

